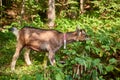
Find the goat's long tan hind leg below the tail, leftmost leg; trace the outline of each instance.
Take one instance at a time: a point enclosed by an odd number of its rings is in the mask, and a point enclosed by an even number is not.
[[[17,43],[16,51],[15,51],[15,54],[13,55],[12,63],[11,63],[11,70],[12,71],[15,70],[16,61],[19,57],[19,54],[20,54],[20,51],[21,51],[22,48],[23,48],[23,45],[21,45],[20,43]]]

